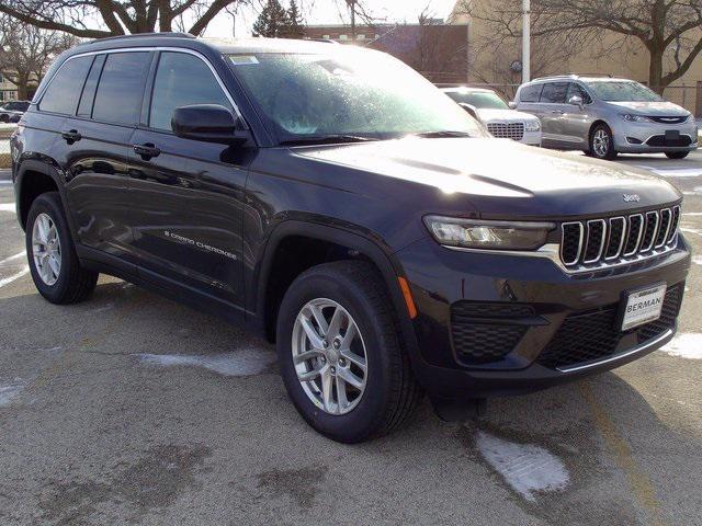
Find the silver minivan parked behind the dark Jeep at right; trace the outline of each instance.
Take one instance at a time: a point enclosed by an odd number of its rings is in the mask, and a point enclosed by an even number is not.
[[[519,88],[513,106],[541,118],[545,147],[584,150],[598,159],[620,152],[684,159],[699,146],[694,116],[633,80],[536,79]]]

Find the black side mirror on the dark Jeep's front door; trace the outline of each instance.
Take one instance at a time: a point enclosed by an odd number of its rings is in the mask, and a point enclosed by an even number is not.
[[[177,107],[171,118],[171,128],[183,139],[244,145],[251,139],[249,130],[240,121],[219,104],[192,104]]]

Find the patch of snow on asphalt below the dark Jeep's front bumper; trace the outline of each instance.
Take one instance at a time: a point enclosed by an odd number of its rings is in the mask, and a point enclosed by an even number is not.
[[[541,446],[507,442],[483,431],[476,445],[485,460],[530,502],[536,502],[541,492],[565,490],[570,481],[561,459]]]

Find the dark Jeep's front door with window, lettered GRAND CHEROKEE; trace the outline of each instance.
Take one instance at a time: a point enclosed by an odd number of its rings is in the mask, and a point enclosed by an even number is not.
[[[146,279],[166,277],[244,306],[241,218],[250,152],[177,137],[177,107],[219,104],[236,114],[206,58],[163,50],[132,137],[132,256]]]

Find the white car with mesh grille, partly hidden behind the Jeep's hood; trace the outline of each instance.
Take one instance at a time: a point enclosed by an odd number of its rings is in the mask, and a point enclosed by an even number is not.
[[[495,91],[484,88],[444,88],[443,91],[483,123],[497,138],[541,146],[541,123],[529,113],[510,110]]]

